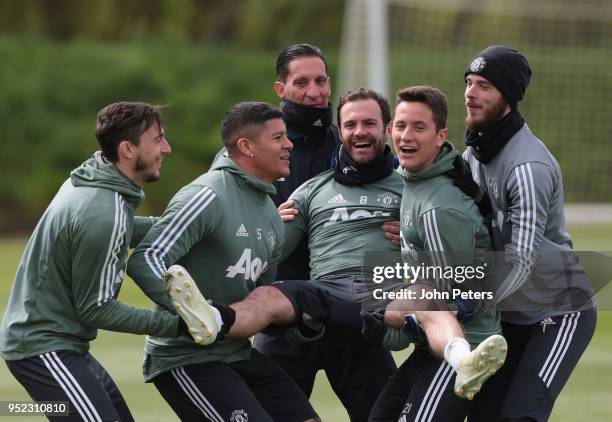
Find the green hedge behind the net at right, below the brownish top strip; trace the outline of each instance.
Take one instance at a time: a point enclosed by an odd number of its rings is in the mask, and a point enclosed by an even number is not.
[[[529,59],[533,75],[519,111],[533,133],[558,160],[566,202],[612,201],[612,120],[609,93],[612,55],[604,47],[562,45],[534,47],[510,43]],[[448,97],[449,138],[463,148],[465,128],[463,72],[487,42],[463,46],[392,46],[392,92],[413,84],[430,84]]]

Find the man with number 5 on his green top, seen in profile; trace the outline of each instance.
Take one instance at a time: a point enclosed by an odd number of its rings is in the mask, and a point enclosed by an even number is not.
[[[270,194],[272,182],[289,174],[293,147],[282,112],[266,103],[239,103],[226,113],[221,138],[228,157],[219,157],[172,198],[130,258],[128,273],[161,307],[171,308],[159,280],[173,264],[186,268],[207,297],[223,303],[275,280],[284,230]],[[194,287],[185,280],[173,291],[193,302]],[[189,311],[177,310],[181,316]],[[201,344],[215,339],[221,323],[203,322],[201,335],[193,328]],[[148,337],[144,375],[182,420],[317,418],[295,382],[248,340],[201,347],[191,339]]]

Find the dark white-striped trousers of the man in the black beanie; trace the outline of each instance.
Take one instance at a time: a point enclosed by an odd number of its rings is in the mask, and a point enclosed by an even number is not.
[[[555,400],[588,346],[597,312],[573,312],[536,324],[502,321],[508,341],[504,366],[474,401],[470,422],[547,421]]]

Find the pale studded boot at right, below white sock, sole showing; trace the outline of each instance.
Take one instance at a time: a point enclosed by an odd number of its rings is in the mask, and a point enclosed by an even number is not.
[[[500,335],[483,340],[459,365],[455,377],[455,394],[472,400],[482,384],[502,367],[506,361],[508,344]]]

